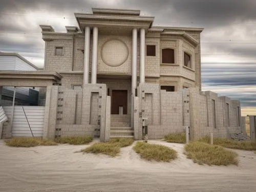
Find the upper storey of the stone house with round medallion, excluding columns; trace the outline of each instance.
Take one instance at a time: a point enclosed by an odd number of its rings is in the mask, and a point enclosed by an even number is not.
[[[132,30],[145,29],[145,77],[183,77],[201,86],[200,33],[202,28],[154,26],[154,17],[140,16],[139,10],[98,9],[92,14],[75,13],[79,27],[66,26],[66,33],[41,25],[45,40],[44,70],[82,73],[84,28],[98,28],[97,74],[132,75]],[[90,44],[90,70],[92,66]],[[137,74],[140,65],[140,33],[137,38]]]

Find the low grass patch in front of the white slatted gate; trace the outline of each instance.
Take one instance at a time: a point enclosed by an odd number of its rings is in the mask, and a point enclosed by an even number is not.
[[[42,139],[40,137],[13,137],[6,139],[5,144],[13,147],[33,147],[39,145],[57,145],[50,139]]]

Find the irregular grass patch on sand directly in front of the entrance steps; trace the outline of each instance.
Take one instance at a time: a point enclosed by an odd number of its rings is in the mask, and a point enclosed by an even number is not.
[[[105,154],[111,157],[115,157],[120,153],[120,148],[129,146],[133,144],[133,139],[127,138],[115,138],[110,139],[109,142],[105,143],[95,143],[92,146],[89,146],[80,152],[84,153],[95,153],[95,154]]]

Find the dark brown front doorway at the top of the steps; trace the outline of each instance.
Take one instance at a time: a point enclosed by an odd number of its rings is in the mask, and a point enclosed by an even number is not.
[[[112,90],[111,114],[127,114],[127,90]]]

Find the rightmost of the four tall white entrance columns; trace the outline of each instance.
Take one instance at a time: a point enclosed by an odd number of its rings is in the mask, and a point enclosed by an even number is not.
[[[140,29],[140,83],[145,82],[145,29]]]

